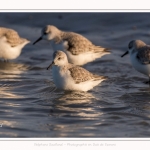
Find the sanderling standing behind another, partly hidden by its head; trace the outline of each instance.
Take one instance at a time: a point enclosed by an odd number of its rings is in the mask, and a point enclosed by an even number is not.
[[[108,48],[95,46],[87,38],[74,32],[64,32],[52,25],[42,29],[42,35],[34,43],[45,39],[51,41],[53,50],[63,50],[68,61],[74,65],[84,65],[103,55],[110,54]]]

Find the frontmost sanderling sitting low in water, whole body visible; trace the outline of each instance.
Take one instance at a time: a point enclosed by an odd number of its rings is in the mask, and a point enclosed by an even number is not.
[[[66,91],[88,91],[106,80],[107,77],[92,74],[86,69],[68,62],[63,51],[55,51],[52,67],[53,81],[58,89]]]

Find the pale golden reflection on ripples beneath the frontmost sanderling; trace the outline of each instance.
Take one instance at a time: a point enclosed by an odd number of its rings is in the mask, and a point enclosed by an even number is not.
[[[95,112],[97,98],[89,92],[60,92],[55,90],[45,95],[47,105],[50,106],[49,115],[70,115],[78,117],[97,117],[102,112]],[[82,118],[83,119],[83,118]]]

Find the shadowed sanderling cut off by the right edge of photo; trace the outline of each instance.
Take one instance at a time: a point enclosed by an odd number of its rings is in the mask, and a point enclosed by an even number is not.
[[[150,45],[146,45],[141,40],[132,40],[126,51],[121,57],[130,54],[133,67],[149,77],[150,84]]]

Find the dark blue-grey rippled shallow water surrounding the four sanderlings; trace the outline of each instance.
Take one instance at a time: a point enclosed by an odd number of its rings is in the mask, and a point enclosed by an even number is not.
[[[0,26],[31,43],[20,57],[0,61],[0,137],[149,137],[150,88],[129,56],[133,39],[150,44],[150,13],[0,13]],[[53,24],[78,32],[112,53],[84,68],[108,76],[89,92],[55,88],[51,45],[32,45],[41,28]]]

